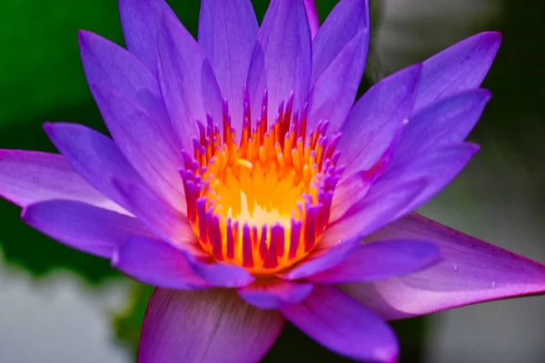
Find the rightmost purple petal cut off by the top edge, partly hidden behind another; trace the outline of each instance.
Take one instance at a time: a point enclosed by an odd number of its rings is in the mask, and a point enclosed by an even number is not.
[[[342,49],[352,42],[356,34],[369,27],[369,2],[367,0],[342,0],[336,5],[332,13],[325,19],[320,30],[312,41],[312,81],[314,84],[332,64]],[[369,37],[364,39],[369,42]],[[367,50],[369,44],[362,44]],[[360,83],[363,67],[356,74],[355,80]]]

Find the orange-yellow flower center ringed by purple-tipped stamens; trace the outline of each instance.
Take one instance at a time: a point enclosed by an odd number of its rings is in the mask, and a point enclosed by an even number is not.
[[[223,135],[209,117],[199,124],[193,155],[182,171],[187,216],[214,260],[271,275],[302,260],[316,246],[329,220],[341,171],[328,122],[306,130],[306,111],[292,113],[293,94],[271,124],[267,93],[253,129],[244,92],[240,142],[223,106]]]

